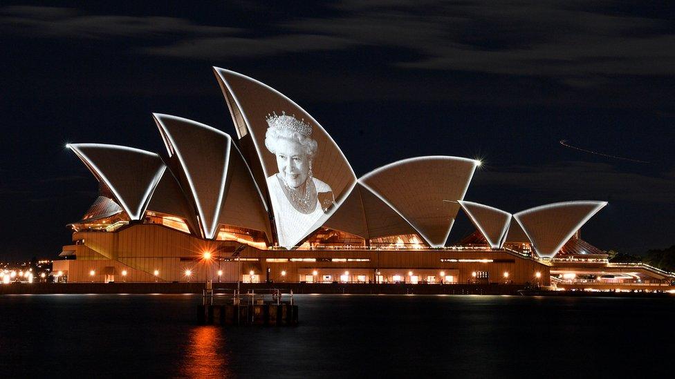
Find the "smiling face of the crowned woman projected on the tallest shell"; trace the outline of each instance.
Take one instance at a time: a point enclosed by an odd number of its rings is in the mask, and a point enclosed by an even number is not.
[[[309,173],[309,159],[302,145],[293,139],[281,138],[276,147],[281,179],[292,188],[304,184]]]

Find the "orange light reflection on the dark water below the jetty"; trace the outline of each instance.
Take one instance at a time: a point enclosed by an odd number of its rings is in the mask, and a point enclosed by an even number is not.
[[[214,326],[192,329],[180,369],[187,378],[231,377],[223,330]]]

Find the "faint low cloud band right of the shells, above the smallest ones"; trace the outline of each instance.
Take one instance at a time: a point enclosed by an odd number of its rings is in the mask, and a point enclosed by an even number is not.
[[[672,173],[649,176],[589,162],[555,162],[535,166],[505,166],[477,173],[472,186],[500,188],[550,202],[560,200],[619,200],[639,204],[675,204]],[[508,188],[508,189],[507,189]],[[511,210],[518,211],[518,210]]]

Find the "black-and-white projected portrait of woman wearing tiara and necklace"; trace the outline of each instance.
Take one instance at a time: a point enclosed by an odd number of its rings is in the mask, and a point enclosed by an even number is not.
[[[265,146],[277,158],[278,172],[267,178],[277,218],[279,245],[290,247],[305,237],[335,198],[331,186],[314,177],[317,142],[312,127],[286,113],[266,117]]]

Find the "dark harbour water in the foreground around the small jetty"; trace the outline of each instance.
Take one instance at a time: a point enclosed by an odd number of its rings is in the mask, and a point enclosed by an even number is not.
[[[297,327],[196,324],[200,295],[0,296],[1,377],[672,376],[673,298],[296,295]]]

